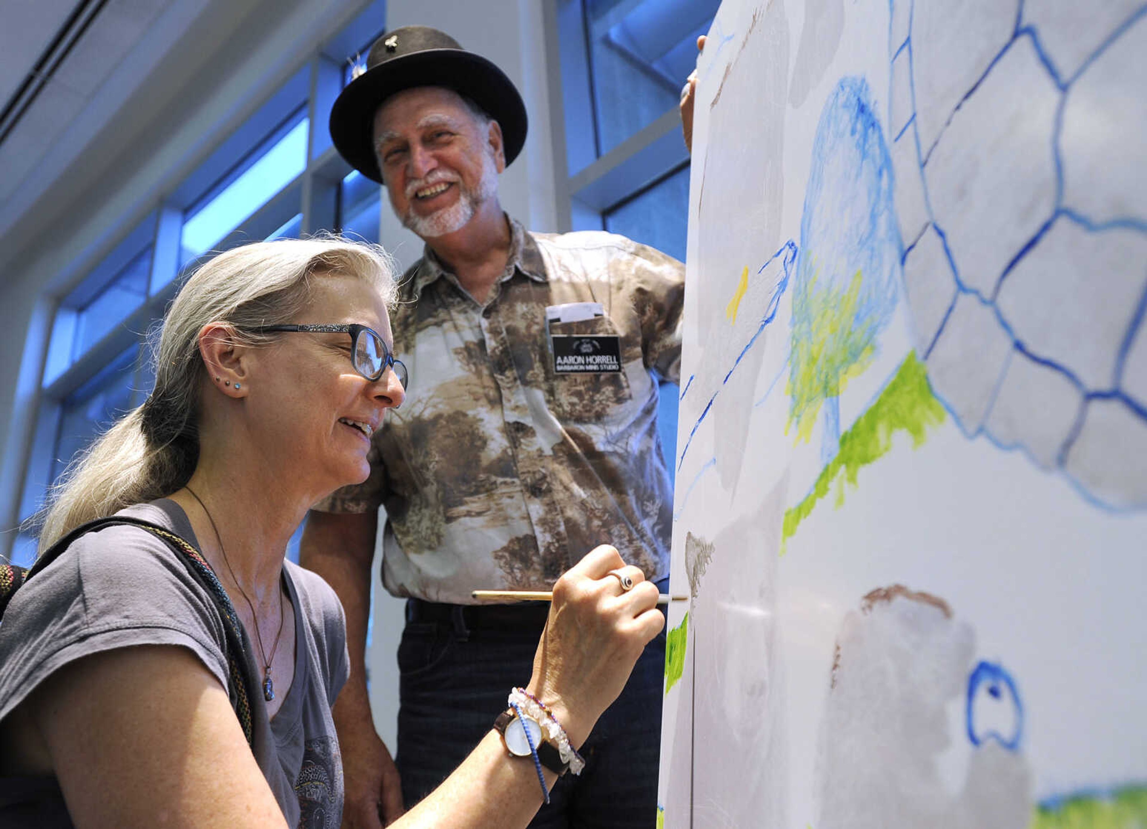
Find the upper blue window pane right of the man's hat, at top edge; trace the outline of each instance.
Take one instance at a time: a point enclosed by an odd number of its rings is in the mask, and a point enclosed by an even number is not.
[[[604,155],[677,107],[697,36],[720,0],[586,0],[598,142]]]

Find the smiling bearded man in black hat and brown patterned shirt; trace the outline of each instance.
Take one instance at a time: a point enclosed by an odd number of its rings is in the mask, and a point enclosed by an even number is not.
[[[677,380],[684,297],[682,265],[651,248],[535,234],[502,212],[498,173],[526,114],[493,63],[407,26],[367,65],[335,102],[331,138],[427,245],[392,317],[406,402],[375,433],[370,478],[317,505],[301,549],[346,610],[352,679],[335,721],[352,826],[401,809],[362,680],[377,508],[383,582],[408,597],[397,758],[413,806],[506,708],[545,626],[547,604],[482,606],[473,590],[549,589],[602,543],[664,589],[657,378]],[[646,649],[582,746],[585,773],[559,781],[533,826],[654,826],[664,648],[662,634]]]

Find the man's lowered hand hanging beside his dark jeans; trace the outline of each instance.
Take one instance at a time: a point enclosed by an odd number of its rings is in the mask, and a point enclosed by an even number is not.
[[[335,708],[337,710],[337,704]],[[343,829],[380,829],[403,816],[403,787],[390,752],[374,723],[361,729],[341,729],[354,736],[342,746]]]

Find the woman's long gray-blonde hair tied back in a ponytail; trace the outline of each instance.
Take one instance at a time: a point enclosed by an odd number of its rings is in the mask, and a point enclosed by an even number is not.
[[[311,278],[356,276],[389,307],[395,269],[376,245],[340,237],[255,242],[219,254],[187,280],[149,339],[155,387],[69,465],[44,512],[39,551],[71,529],[125,506],[171,495],[190,479],[200,457],[198,403],[205,367],[198,333],[228,323],[236,340],[266,344],[251,328],[298,321]]]

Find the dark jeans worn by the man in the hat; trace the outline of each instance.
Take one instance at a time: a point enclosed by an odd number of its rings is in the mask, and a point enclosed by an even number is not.
[[[398,648],[398,754],[411,807],[453,772],[524,685],[548,605],[463,607],[411,599]],[[629,683],[582,746],[585,769],[564,774],[531,827],[656,826],[665,634],[650,642]],[[506,758],[507,762],[528,759]],[[540,793],[540,792],[539,792]]]

